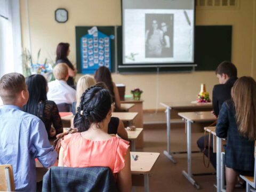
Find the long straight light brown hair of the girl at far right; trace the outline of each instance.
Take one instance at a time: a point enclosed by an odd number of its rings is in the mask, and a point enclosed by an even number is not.
[[[249,140],[256,139],[256,82],[252,77],[240,77],[235,82],[231,97],[236,110],[238,131]]]

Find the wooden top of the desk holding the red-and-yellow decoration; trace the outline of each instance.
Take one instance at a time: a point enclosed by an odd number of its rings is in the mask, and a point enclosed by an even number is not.
[[[212,108],[212,103],[198,103],[196,101],[186,102],[161,102],[160,105],[170,109],[204,109]]]

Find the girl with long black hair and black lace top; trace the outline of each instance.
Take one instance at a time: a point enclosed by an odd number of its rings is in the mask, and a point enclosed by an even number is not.
[[[63,126],[57,105],[47,100],[47,81],[42,75],[30,75],[26,78],[29,99],[23,110],[39,117],[45,125],[48,137],[63,132]],[[54,129],[51,129],[53,124]]]

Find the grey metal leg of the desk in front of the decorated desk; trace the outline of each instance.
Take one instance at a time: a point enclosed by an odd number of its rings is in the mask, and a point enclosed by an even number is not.
[[[187,180],[189,180],[189,182],[192,183],[192,185],[196,189],[200,189],[200,186],[192,178],[192,173],[191,173],[191,122],[186,120],[186,124],[187,124],[188,172],[182,171],[182,174],[184,175],[184,177],[187,178]]]

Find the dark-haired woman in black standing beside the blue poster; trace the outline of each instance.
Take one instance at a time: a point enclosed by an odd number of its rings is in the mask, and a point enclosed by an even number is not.
[[[67,84],[73,88],[75,88],[74,78],[76,76],[76,68],[72,65],[72,63],[68,60],[69,55],[69,43],[59,43],[56,51],[56,64],[58,63],[66,63],[68,65],[68,80]]]

